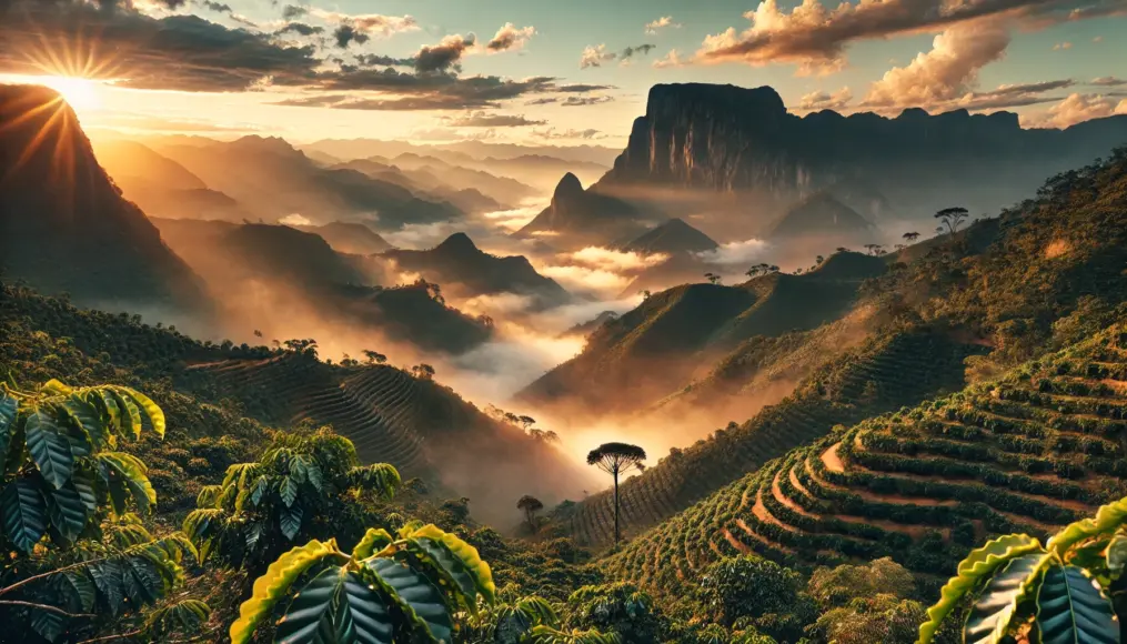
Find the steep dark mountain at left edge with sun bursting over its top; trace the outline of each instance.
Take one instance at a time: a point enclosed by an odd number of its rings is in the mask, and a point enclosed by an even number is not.
[[[0,86],[0,270],[114,308],[195,309],[203,283],[98,165],[54,90]]]

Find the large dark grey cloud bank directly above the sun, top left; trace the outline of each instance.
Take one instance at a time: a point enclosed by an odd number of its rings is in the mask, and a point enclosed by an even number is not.
[[[152,18],[131,6],[16,0],[3,16],[0,71],[11,73],[74,73],[136,89],[238,91],[269,78],[307,82],[321,64],[311,46],[274,43],[266,34],[193,15]],[[60,63],[52,52],[63,46],[69,53]]]

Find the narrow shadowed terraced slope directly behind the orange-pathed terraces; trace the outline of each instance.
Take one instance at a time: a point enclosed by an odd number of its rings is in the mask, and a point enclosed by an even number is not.
[[[962,361],[983,347],[928,328],[869,341],[816,370],[778,405],[709,440],[673,450],[620,488],[625,533],[639,533],[787,450],[817,440],[840,423],[855,423],[941,390],[964,386]],[[913,373],[913,378],[904,378]],[[573,533],[587,544],[612,538],[613,496],[603,492],[577,504]]]

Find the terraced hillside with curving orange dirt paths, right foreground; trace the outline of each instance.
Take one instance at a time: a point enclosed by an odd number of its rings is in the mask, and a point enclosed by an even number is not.
[[[942,575],[987,536],[1045,536],[1089,515],[1127,491],[1125,323],[791,451],[637,539],[613,566],[666,590],[748,552],[791,564],[891,556]]]

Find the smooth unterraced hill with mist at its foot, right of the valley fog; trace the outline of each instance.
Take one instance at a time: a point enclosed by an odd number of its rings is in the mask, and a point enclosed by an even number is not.
[[[861,283],[885,272],[878,257],[841,253],[805,275],[770,274],[735,286],[685,284],[655,293],[609,321],[578,356],[520,392],[539,405],[592,413],[645,408],[680,390],[740,342],[811,329],[846,315]]]

